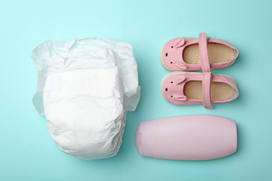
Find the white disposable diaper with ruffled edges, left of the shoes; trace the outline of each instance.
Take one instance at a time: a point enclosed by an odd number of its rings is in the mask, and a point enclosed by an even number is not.
[[[38,72],[33,105],[59,150],[82,159],[118,152],[127,111],[139,102],[130,44],[102,38],[49,40],[32,54]]]

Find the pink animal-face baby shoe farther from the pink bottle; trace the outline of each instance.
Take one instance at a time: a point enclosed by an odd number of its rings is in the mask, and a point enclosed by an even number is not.
[[[239,52],[236,47],[222,39],[207,38],[199,33],[199,38],[173,38],[160,50],[160,63],[167,70],[190,71],[206,68],[227,68],[232,65]],[[204,64],[208,64],[204,68]]]

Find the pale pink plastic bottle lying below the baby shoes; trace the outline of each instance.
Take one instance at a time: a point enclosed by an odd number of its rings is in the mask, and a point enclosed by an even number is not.
[[[216,159],[236,152],[237,129],[233,120],[211,115],[146,120],[136,129],[135,145],[144,157]]]

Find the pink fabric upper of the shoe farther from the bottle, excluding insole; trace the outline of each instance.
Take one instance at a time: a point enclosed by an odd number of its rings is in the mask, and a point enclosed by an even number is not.
[[[183,51],[189,45],[193,45],[197,43],[199,43],[199,48],[200,48],[200,46],[206,44],[204,41],[220,43],[234,50],[234,58],[232,58],[231,60],[228,60],[222,63],[209,63],[208,61],[211,68],[226,68],[232,65],[239,54],[238,49],[236,49],[236,47],[231,45],[229,42],[226,42],[225,40],[222,40],[222,39],[213,39],[213,38],[206,39],[204,38],[205,35],[206,33],[200,33],[199,38],[184,37],[184,38],[174,38],[172,40],[168,40],[163,46],[163,48],[161,49],[161,54],[160,54],[160,59],[161,59],[160,61],[162,62],[163,66],[167,68],[168,70],[172,70],[172,71],[202,70],[203,68],[202,64],[188,64],[185,61],[183,61]],[[206,49],[200,52],[204,53],[206,52]]]

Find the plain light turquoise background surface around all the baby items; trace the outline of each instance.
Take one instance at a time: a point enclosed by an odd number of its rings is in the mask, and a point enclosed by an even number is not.
[[[0,1],[0,180],[272,180],[272,1]],[[159,61],[170,38],[206,32],[239,49],[229,68],[240,96],[213,110],[176,106],[160,95],[169,71]],[[45,40],[114,38],[130,42],[142,97],[128,113],[118,155],[85,161],[65,155],[33,108],[37,73],[32,50]],[[188,162],[141,157],[139,122],[187,114],[236,121],[238,151],[222,159]]]

